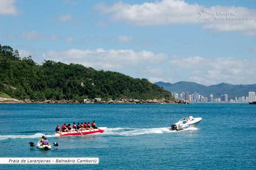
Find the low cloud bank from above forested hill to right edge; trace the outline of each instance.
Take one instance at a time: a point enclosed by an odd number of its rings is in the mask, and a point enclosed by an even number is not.
[[[117,71],[132,77],[146,78],[153,83],[158,81],[176,83],[177,81],[173,81],[182,79],[209,86],[222,82],[254,84],[256,79],[256,59],[175,55],[168,57],[163,53],[155,54],[146,50],[136,52],[130,49],[105,50],[102,48],[48,51],[42,56],[45,60],[66,64],[77,63],[94,69]]]

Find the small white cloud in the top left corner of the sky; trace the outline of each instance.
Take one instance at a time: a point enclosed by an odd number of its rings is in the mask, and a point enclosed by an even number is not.
[[[18,15],[14,3],[16,0],[0,0],[0,15]]]

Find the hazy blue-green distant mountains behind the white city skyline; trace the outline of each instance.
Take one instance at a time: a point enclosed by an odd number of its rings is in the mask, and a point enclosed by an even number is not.
[[[256,84],[233,85],[227,83],[220,83],[211,86],[204,86],[202,84],[184,81],[174,84],[164,82],[157,82],[155,84],[157,84],[158,86],[163,86],[165,90],[168,90],[170,92],[176,92],[178,94],[188,91],[189,95],[191,95],[196,91],[198,94],[208,98],[210,94],[212,94],[214,98],[219,98],[222,94],[227,94],[229,100],[235,99],[235,97],[246,97],[248,96],[249,91],[256,91]]]

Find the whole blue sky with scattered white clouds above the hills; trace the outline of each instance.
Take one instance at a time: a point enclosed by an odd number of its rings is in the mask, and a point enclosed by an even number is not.
[[[150,82],[256,83],[255,0],[0,0],[0,44]]]

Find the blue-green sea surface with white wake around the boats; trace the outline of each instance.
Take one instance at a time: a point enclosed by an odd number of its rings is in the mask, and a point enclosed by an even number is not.
[[[191,129],[169,131],[183,117]],[[55,137],[57,124],[96,121],[104,133]],[[0,164],[0,170],[255,170],[256,105],[0,104],[0,157],[99,158],[88,164]],[[30,147],[41,136],[52,150]]]

